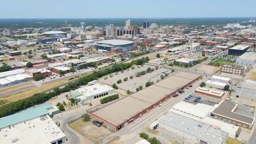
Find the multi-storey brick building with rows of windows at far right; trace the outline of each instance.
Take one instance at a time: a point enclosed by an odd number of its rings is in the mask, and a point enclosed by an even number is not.
[[[233,75],[242,75],[244,73],[244,66],[240,65],[223,65],[221,72],[230,73]]]

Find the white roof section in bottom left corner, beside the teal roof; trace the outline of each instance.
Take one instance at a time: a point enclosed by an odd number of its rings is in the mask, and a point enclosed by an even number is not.
[[[46,115],[44,120],[35,118],[10,126],[0,131],[0,143],[52,143],[65,137],[64,133],[56,126],[52,119]],[[28,138],[29,137],[29,138]]]

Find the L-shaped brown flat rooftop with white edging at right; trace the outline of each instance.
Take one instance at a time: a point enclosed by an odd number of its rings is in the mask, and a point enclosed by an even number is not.
[[[237,107],[238,104],[232,103],[231,101],[221,101],[221,103],[219,103],[219,106],[215,108],[212,113],[242,122],[244,124],[253,125],[255,118],[235,113],[234,111],[236,110]]]

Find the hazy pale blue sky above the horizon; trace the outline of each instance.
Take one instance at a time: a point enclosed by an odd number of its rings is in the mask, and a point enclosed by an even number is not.
[[[256,0],[1,0],[0,18],[255,17]]]

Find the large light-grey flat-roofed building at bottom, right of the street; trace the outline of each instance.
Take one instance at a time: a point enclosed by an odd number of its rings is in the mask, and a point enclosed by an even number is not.
[[[224,144],[228,138],[227,132],[173,112],[168,112],[158,122],[160,127],[196,143]]]

